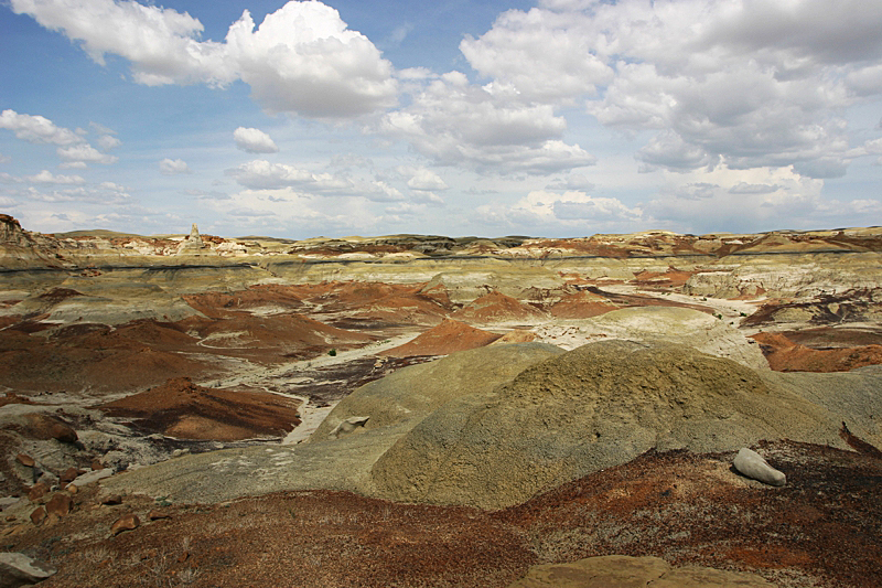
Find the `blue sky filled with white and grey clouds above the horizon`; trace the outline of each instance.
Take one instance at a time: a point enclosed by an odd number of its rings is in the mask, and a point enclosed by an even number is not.
[[[882,224],[882,3],[0,0],[44,233]]]

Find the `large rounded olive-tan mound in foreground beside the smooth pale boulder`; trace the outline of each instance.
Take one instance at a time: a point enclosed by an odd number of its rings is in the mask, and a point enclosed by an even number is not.
[[[602,341],[447,403],[377,460],[373,479],[389,500],[499,509],[649,449],[779,438],[843,447],[840,420],[731,360]]]

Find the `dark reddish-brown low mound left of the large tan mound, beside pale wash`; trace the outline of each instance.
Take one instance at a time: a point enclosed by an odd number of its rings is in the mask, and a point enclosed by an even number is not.
[[[277,394],[204,388],[179,377],[98,408],[137,418],[140,428],[153,432],[235,441],[284,435],[300,424],[298,406],[298,400]]]

